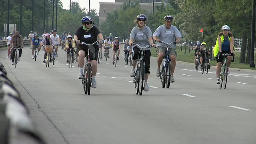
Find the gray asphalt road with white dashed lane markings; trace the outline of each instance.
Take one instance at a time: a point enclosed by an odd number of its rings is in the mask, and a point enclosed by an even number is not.
[[[98,65],[97,88],[83,94],[76,66],[68,68],[61,49],[46,68],[24,48],[15,69],[0,51],[8,77],[22,94],[36,127],[49,144],[255,144],[256,72],[232,69],[227,89],[194,64],[177,62],[175,82],[161,88],[151,58],[150,90],[135,94],[130,66]],[[232,107],[231,107],[232,106]]]

